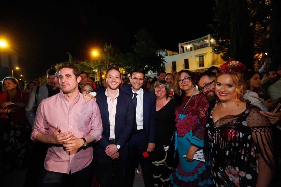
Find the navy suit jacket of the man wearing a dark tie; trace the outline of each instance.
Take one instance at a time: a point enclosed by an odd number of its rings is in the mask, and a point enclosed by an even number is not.
[[[142,88],[141,88],[142,89]],[[122,84],[121,91],[130,94],[130,99],[133,97],[132,86]],[[155,143],[156,139],[156,96],[146,90],[143,90],[143,116],[142,125],[144,134],[149,143]]]

